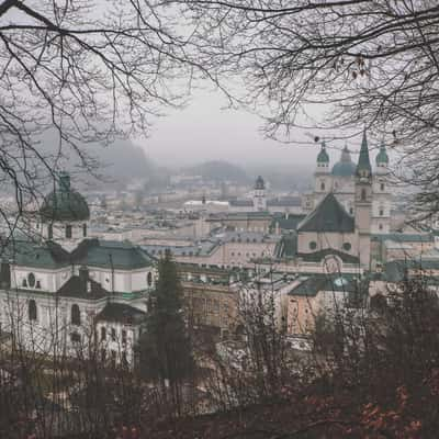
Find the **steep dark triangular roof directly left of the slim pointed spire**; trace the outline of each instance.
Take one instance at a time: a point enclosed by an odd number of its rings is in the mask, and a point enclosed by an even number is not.
[[[297,227],[299,232],[336,232],[353,233],[353,217],[338,202],[333,192],[329,192],[317,207],[311,212]]]

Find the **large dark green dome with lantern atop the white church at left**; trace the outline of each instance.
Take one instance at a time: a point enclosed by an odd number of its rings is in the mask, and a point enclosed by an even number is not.
[[[55,191],[44,200],[40,210],[43,222],[61,221],[88,221],[90,210],[86,199],[70,188],[70,176],[61,172]]]

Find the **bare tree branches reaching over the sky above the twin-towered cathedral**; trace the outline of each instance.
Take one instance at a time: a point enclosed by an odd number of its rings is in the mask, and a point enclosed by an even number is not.
[[[367,126],[376,142],[404,153],[413,172],[399,177],[437,205],[436,1],[165,3],[181,8],[194,29],[196,59],[238,102],[260,111],[267,135],[306,144],[290,136],[293,127],[312,127],[318,140],[318,128],[336,139],[340,128],[352,136]],[[230,87],[230,79],[243,87]]]

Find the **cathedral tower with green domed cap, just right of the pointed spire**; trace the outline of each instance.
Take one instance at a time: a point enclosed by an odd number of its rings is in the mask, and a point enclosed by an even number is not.
[[[389,181],[389,156],[384,143],[375,158],[373,176],[372,233],[387,234],[391,229],[392,195]]]

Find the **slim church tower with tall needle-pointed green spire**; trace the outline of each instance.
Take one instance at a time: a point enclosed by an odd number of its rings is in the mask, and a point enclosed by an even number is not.
[[[371,219],[372,219],[372,167],[369,159],[369,147],[365,130],[361,142],[360,157],[356,169],[356,230],[358,234],[358,252],[363,268],[370,268]]]

